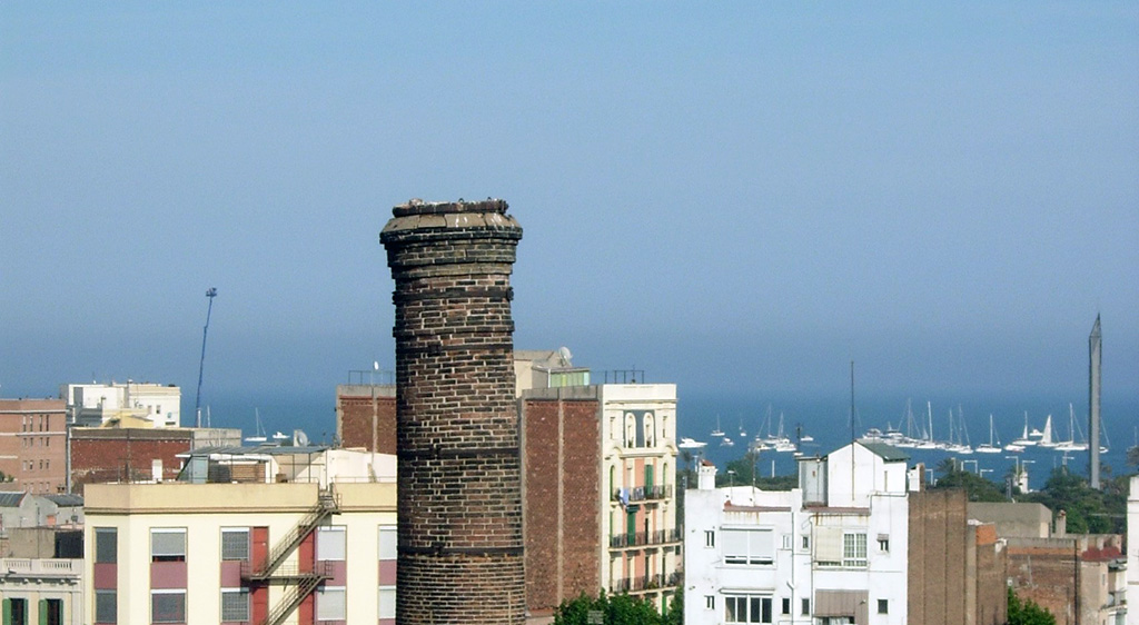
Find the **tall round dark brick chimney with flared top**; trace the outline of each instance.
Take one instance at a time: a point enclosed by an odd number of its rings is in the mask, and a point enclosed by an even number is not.
[[[507,204],[393,208],[396,623],[525,622]]]

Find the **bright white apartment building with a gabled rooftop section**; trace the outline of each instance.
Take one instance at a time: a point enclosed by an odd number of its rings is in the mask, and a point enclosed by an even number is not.
[[[685,623],[906,623],[904,457],[854,443],[800,462],[800,487],[685,499]]]

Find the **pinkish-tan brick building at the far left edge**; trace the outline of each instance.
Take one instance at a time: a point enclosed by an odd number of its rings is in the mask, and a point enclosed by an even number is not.
[[[3,490],[62,493],[67,477],[67,414],[63,400],[0,400]]]

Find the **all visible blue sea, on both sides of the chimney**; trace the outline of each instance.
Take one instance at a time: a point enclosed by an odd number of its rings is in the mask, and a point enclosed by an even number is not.
[[[685,393],[680,389],[678,405],[679,436],[704,441],[707,446],[703,457],[724,470],[731,460],[743,458],[747,443],[757,434],[775,434],[782,417],[784,431],[795,439],[796,430],[814,438],[803,443],[802,451],[809,455],[826,454],[850,442],[850,396],[836,394],[829,397],[731,397],[714,394]],[[949,411],[953,411],[954,421],[958,411],[964,417],[965,430],[969,442],[976,446],[989,441],[989,414],[993,416],[995,434],[1001,443],[1007,443],[1021,435],[1024,429],[1024,416],[1027,412],[1029,425],[1042,428],[1048,414],[1052,416],[1054,439],[1068,438],[1068,402],[1073,404],[1076,421],[1076,439],[1080,431],[1088,435],[1087,411],[1088,400],[1058,397],[906,397],[879,396],[857,398],[857,420],[854,431],[861,436],[868,428],[875,427],[883,431],[888,426],[906,430],[907,401],[909,400],[915,420],[928,427],[927,405],[932,406],[933,431],[937,439],[945,439],[949,433]],[[192,425],[192,397],[183,397],[182,422]],[[929,402],[927,404],[927,402]],[[327,393],[304,392],[261,392],[240,394],[219,394],[205,397],[203,404],[210,406],[210,421],[214,427],[240,428],[246,436],[255,427],[255,414],[260,414],[261,423],[267,435],[274,431],[292,434],[302,429],[313,443],[331,443],[336,434],[335,390]],[[1104,397],[1104,428],[1109,442],[1109,451],[1101,455],[1103,464],[1111,467],[1114,475],[1133,474],[1134,469],[1126,466],[1126,449],[1136,444],[1136,428],[1139,427],[1139,398]],[[770,422],[768,414],[771,414]],[[720,445],[716,438],[710,436],[716,428],[730,436],[735,445]],[[205,419],[205,416],[203,417]],[[740,429],[746,436],[740,436]],[[995,442],[995,441],[994,441]],[[936,467],[948,458],[949,452],[903,450],[911,457],[910,462],[925,462]],[[1019,460],[1010,459],[1016,455]],[[1048,479],[1056,467],[1066,466],[1068,470],[1088,475],[1088,453],[1068,453],[1027,447],[1025,452],[1013,454],[958,455],[966,461],[966,468],[982,472],[984,477],[1000,482],[1002,476],[1015,462],[1027,461],[1030,483],[1039,488]],[[796,471],[795,459],[790,453],[764,451],[760,454],[757,469],[762,475],[788,475]],[[749,476],[746,476],[749,479]]]

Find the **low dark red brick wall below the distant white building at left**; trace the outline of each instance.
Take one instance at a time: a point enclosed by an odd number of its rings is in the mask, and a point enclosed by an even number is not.
[[[162,460],[162,478],[175,479],[181,469],[178,454],[190,451],[189,431],[75,428],[72,430],[72,492],[83,494],[85,484],[148,480],[155,459]]]

